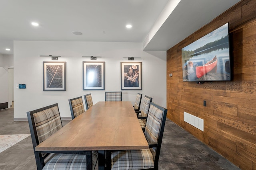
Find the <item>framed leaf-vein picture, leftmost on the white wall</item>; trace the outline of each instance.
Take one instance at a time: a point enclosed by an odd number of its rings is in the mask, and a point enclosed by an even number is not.
[[[66,62],[43,62],[43,90],[66,91]]]

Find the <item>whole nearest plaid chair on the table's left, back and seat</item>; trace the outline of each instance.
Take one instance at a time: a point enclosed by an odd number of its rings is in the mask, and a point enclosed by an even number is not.
[[[37,145],[62,128],[58,104],[28,111],[27,116],[38,170],[95,168],[98,160],[98,153],[95,151],[80,151],[77,154],[76,151],[72,154],[68,151],[56,151],[58,153],[35,151]]]

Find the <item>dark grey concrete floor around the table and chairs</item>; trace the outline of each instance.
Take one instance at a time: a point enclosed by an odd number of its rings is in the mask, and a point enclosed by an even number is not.
[[[0,135],[9,134],[30,134],[28,122],[13,121],[13,109],[0,110]],[[240,170],[169,119],[166,119],[159,169]],[[0,153],[0,170],[36,170],[31,137]]]

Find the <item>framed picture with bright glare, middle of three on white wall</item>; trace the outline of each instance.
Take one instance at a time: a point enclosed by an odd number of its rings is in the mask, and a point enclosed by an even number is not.
[[[83,90],[105,90],[105,62],[83,61]]]

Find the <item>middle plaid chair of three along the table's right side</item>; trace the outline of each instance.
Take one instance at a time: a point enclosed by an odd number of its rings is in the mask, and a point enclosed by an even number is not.
[[[148,111],[149,111],[151,102],[152,102],[152,98],[145,95],[144,100],[142,102],[141,111],[135,111],[137,113],[138,121],[143,131],[145,130],[145,127],[146,127],[146,121],[147,121]],[[141,115],[139,115],[139,113],[141,113]]]

